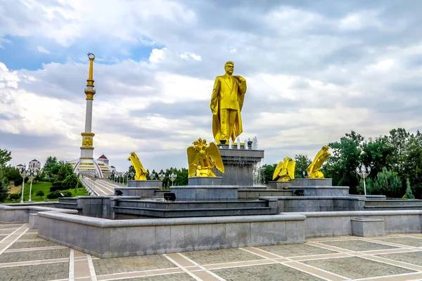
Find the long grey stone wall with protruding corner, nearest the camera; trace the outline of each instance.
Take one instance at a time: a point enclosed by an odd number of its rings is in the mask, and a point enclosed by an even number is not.
[[[110,221],[39,214],[39,237],[101,258],[305,242],[305,216]]]

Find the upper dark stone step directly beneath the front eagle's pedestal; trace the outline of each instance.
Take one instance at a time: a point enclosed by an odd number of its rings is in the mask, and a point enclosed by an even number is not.
[[[267,207],[267,201],[174,201],[160,202],[153,200],[118,200],[117,207],[136,207],[148,209],[226,209],[226,208],[257,208]]]

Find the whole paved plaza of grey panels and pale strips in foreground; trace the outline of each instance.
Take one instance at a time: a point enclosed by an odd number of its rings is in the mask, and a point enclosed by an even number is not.
[[[422,280],[422,234],[98,259],[0,224],[0,280]]]

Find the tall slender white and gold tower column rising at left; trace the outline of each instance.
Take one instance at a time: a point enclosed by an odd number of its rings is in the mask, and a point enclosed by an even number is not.
[[[92,102],[94,101],[95,89],[93,79],[93,66],[95,55],[88,53],[89,58],[89,74],[87,79],[87,88],[85,88],[85,95],[87,96],[87,113],[85,115],[85,131],[82,135],[81,157],[79,159],[94,159],[94,136],[92,133]]]

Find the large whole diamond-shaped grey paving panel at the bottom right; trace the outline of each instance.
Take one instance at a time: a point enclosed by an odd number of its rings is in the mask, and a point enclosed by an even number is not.
[[[416,272],[414,270],[399,268],[398,266],[369,261],[368,259],[362,259],[357,256],[338,259],[319,259],[304,261],[303,263],[352,279]]]

